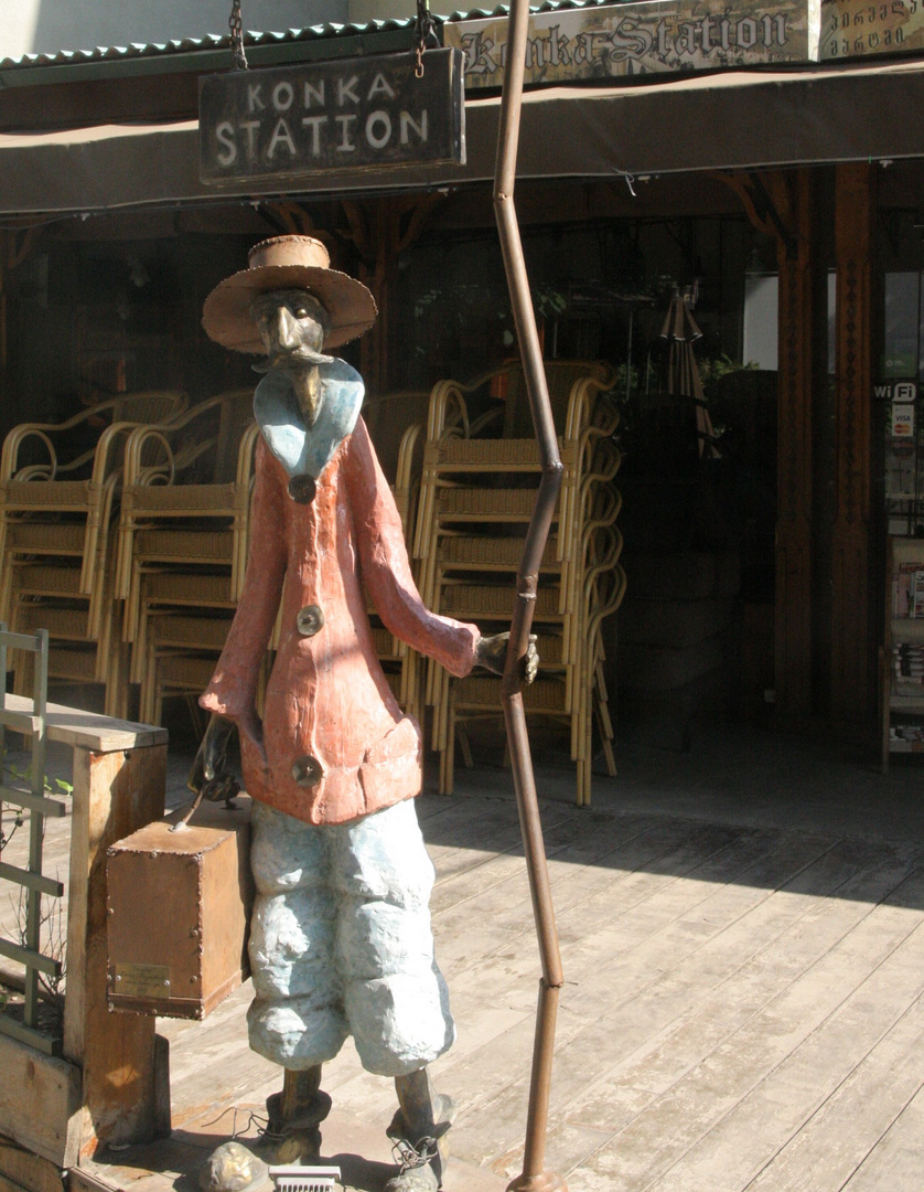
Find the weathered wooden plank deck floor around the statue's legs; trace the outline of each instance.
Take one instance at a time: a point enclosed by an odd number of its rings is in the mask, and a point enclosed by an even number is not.
[[[436,1066],[460,1105],[447,1186],[501,1190],[520,1171],[538,983],[516,808],[418,807],[458,1026]],[[572,1192],[924,1186],[918,844],[564,801],[543,815],[566,973],[548,1166]],[[241,1126],[277,1087],[246,1047],[248,998],[202,1024],[161,1024],[174,1137],[102,1155],[96,1174],[136,1192],[194,1186],[191,1155],[230,1132],[232,1106]],[[324,1087],[325,1154],[344,1156],[352,1186],[381,1187],[389,1084],[348,1045]]]

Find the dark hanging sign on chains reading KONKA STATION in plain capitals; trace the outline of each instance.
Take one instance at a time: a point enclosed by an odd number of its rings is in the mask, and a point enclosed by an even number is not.
[[[204,182],[464,163],[458,50],[343,58],[199,80]]]

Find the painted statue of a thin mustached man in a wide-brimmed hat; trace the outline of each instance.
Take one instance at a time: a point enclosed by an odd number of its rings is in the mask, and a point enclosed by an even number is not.
[[[420,728],[376,659],[363,584],[391,632],[452,675],[477,664],[502,670],[507,635],[482,638],[474,625],[430,613],[417,592],[360,417],[362,379],[323,350],[368,330],[375,315],[369,291],[331,269],[324,246],[306,236],[257,244],[249,268],[206,299],[207,334],[262,350],[267,367],[254,398],[262,437],[248,570],[200,699],[213,715],[189,783],[206,795],[223,789],[236,725],[255,800],[250,1045],[285,1069],[260,1160],[317,1160],[331,1104],[321,1064],[351,1035],[363,1066],[395,1082],[388,1134],[405,1162],[388,1192],[435,1192],[455,1109],[433,1092],[427,1064],[455,1028],[433,958],[433,868],[412,802]],[[261,722],[257,677],[280,606]],[[536,663],[531,647],[529,678]],[[204,1186],[256,1186],[260,1160],[225,1144]]]

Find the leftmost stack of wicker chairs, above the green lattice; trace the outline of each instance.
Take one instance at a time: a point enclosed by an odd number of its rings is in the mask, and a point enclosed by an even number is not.
[[[170,424],[186,406],[180,392],[124,393],[67,422],[15,427],[0,457],[0,621],[49,629],[49,677],[105,684],[112,715],[125,681],[112,586],[124,453],[139,424]],[[31,659],[13,663],[21,694]]]

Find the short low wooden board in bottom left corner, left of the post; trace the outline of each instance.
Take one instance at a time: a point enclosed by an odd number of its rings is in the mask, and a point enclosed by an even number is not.
[[[76,1163],[80,1069],[0,1035],[0,1135],[58,1167]]]

